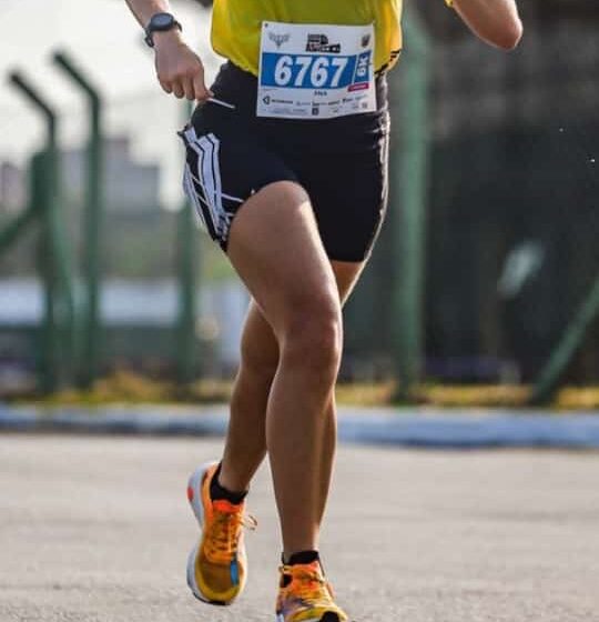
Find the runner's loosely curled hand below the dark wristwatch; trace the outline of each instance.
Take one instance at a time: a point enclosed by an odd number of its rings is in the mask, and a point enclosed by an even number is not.
[[[180,32],[154,32],[155,64],[160,86],[179,99],[205,101],[212,92],[204,82],[204,66],[183,41]]]

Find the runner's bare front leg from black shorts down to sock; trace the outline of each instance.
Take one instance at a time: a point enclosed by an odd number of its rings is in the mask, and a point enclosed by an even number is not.
[[[233,221],[229,257],[278,343],[266,447],[284,551],[316,549],[324,411],[338,372],[342,318],[305,191],[277,182],[248,199]]]

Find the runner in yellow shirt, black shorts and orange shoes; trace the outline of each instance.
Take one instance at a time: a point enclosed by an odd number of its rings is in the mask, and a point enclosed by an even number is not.
[[[181,132],[184,188],[252,294],[224,455],[189,482],[202,528],[190,588],[221,604],[242,592],[243,528],[253,526],[245,496],[267,453],[283,536],[277,621],[345,621],[318,532],[335,453],[341,309],[386,209],[386,72],[402,49],[400,0],[215,0],[212,42],[229,61],[211,89],[167,0],[126,2],[155,49],[162,88],[199,102]],[[517,44],[515,0],[453,6],[485,41]]]

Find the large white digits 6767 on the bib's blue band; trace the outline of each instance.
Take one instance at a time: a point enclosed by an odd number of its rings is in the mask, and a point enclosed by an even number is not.
[[[274,80],[278,87],[335,89],[349,59],[346,57],[292,57],[282,56],[274,69]]]

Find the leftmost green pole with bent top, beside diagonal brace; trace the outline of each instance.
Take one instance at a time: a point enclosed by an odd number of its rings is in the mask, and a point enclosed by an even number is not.
[[[40,92],[18,71],[9,74],[10,83],[21,92],[45,119],[47,140],[43,153],[32,164],[33,194],[42,213],[41,270],[45,287],[44,364],[41,387],[54,391],[61,377],[68,375],[72,354],[74,307],[65,239],[60,225],[59,154],[57,149],[58,117]],[[62,355],[64,353],[64,355]],[[67,371],[67,373],[65,373]]]

